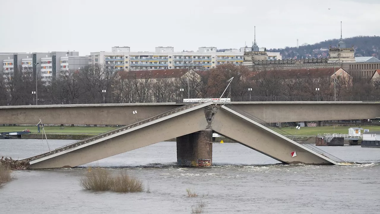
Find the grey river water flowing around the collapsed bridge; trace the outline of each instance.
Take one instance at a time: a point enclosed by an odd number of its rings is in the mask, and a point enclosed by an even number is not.
[[[49,140],[51,148],[73,141]],[[99,160],[149,184],[150,193],[82,190],[82,168],[14,171],[0,188],[1,213],[380,213],[380,148],[320,147],[354,166],[284,165],[240,144],[213,145],[210,168],[176,166],[176,143],[160,142]],[[0,155],[27,158],[47,150],[46,141],[0,140]],[[198,193],[186,196],[186,188]]]

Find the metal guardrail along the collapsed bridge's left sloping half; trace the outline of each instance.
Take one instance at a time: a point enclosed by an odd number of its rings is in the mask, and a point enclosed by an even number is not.
[[[206,99],[204,99],[204,100],[207,101],[207,99],[209,99],[209,98],[206,98]],[[64,146],[62,146],[62,147],[59,147],[59,148],[57,148],[57,149],[55,149],[55,150],[53,150],[53,151],[51,151],[51,152],[43,153],[43,154],[41,154],[41,155],[37,155],[37,156],[31,157],[31,158],[27,158],[27,159],[24,159],[24,160],[21,160],[21,161],[28,161],[28,162],[29,162],[29,161],[32,161],[32,160],[36,160],[36,159],[38,159],[38,158],[47,157],[47,156],[49,156],[49,155],[53,155],[53,154],[55,154],[55,153],[59,153],[59,152],[62,152],[62,151],[68,150],[68,149],[72,149],[72,148],[78,147],[79,145],[87,144],[87,143],[89,143],[89,142],[93,142],[93,141],[95,141],[95,140],[97,140],[97,139],[101,139],[101,138],[103,138],[103,137],[110,136],[110,135],[112,135],[112,134],[116,134],[116,133],[119,133],[119,132],[121,132],[121,131],[125,131],[125,130],[130,129],[130,128],[133,128],[133,127],[135,127],[135,126],[143,125],[143,124],[148,123],[148,122],[150,122],[150,121],[154,121],[154,120],[157,120],[157,119],[159,119],[159,118],[162,118],[162,117],[165,117],[165,116],[171,115],[171,114],[173,114],[173,113],[177,113],[177,112],[180,112],[180,111],[182,111],[182,110],[189,109],[189,108],[191,108],[191,107],[195,107],[195,106],[197,106],[197,105],[203,103],[204,100],[201,100],[201,101],[199,101],[199,102],[193,102],[193,103],[190,103],[190,104],[187,104],[187,105],[182,105],[182,106],[180,106],[180,107],[178,107],[178,108],[176,108],[176,109],[169,110],[169,111],[167,111],[167,112],[161,113],[161,114],[156,115],[156,116],[154,116],[154,117],[147,118],[147,119],[145,119],[145,120],[141,120],[141,121],[138,121],[138,122],[136,122],[136,123],[132,123],[132,124],[127,125],[127,126],[123,126],[123,127],[121,127],[121,128],[113,129],[113,130],[111,130],[111,131],[108,131],[108,132],[105,132],[105,133],[98,134],[98,135],[96,135],[96,136],[88,137],[88,138],[86,138],[86,139],[82,139],[82,140],[79,140],[79,141],[73,142],[73,143],[71,143],[71,144],[67,144],[67,145],[64,145]]]

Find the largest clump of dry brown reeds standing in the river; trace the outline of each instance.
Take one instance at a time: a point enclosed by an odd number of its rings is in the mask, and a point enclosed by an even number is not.
[[[93,191],[113,191],[113,192],[142,192],[144,186],[142,181],[136,177],[128,176],[126,172],[117,175],[107,169],[89,168],[84,177],[79,180],[79,184],[84,190]]]

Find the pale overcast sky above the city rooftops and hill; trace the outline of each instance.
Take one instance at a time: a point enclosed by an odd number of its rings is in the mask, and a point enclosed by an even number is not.
[[[380,35],[380,0],[0,0],[0,52],[284,48]]]

